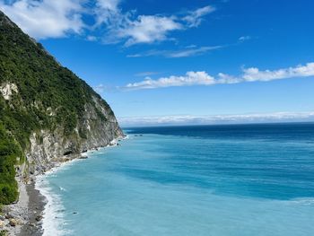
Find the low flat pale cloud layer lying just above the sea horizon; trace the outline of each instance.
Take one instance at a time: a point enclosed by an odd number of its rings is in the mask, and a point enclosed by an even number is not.
[[[314,111],[309,112],[275,112],[240,115],[213,116],[164,116],[118,118],[122,126],[165,126],[165,125],[210,125],[210,124],[240,124],[262,122],[296,122],[313,121]]]

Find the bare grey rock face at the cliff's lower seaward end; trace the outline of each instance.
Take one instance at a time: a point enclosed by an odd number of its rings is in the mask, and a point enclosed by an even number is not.
[[[109,106],[105,106],[103,101],[96,97],[93,97],[91,102],[94,102],[94,106],[91,103],[85,104],[83,117],[80,118],[73,135],[65,136],[65,127],[62,126],[53,132],[34,132],[30,137],[31,147],[26,153],[28,166],[22,167],[21,170],[25,172],[27,168],[26,172],[37,175],[51,169],[56,162],[66,162],[79,157],[79,153],[107,146],[112,140],[123,136]],[[102,118],[95,107],[101,112]],[[79,134],[79,130],[82,130],[84,137]]]

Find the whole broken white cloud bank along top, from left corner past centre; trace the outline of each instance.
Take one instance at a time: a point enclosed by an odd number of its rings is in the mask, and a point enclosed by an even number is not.
[[[138,15],[123,11],[121,0],[0,0],[4,11],[23,31],[35,39],[62,38],[70,33],[88,40],[122,43],[125,47],[172,39],[172,31],[198,27],[205,15],[215,11],[206,5],[186,13]],[[83,21],[92,17],[94,23]],[[91,35],[91,32],[101,35]]]

